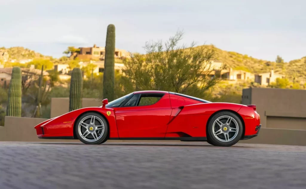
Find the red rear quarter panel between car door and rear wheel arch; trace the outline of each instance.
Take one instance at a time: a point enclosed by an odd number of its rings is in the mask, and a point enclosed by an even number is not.
[[[221,110],[237,112],[242,106],[231,103],[201,103],[184,106],[169,123],[166,137],[181,137],[182,133],[192,137],[206,137],[206,124],[212,114]]]

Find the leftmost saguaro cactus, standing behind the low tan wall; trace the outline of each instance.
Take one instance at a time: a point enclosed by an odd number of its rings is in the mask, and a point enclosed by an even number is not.
[[[6,108],[7,116],[21,117],[21,68],[13,67],[9,83],[9,99]]]

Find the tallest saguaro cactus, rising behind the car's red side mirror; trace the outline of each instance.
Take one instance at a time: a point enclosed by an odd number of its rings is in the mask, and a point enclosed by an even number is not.
[[[114,80],[115,80],[115,26],[107,26],[105,43],[105,60],[103,75],[103,98],[108,101],[114,100]]]

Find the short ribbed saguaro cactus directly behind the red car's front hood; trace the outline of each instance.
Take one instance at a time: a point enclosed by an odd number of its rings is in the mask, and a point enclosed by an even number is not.
[[[70,80],[69,111],[82,108],[83,74],[80,68],[73,68]]]

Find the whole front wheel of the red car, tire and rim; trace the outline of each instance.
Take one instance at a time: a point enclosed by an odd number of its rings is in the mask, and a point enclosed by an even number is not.
[[[75,132],[78,139],[84,144],[104,143],[108,134],[108,124],[100,114],[88,112],[76,122]]]

